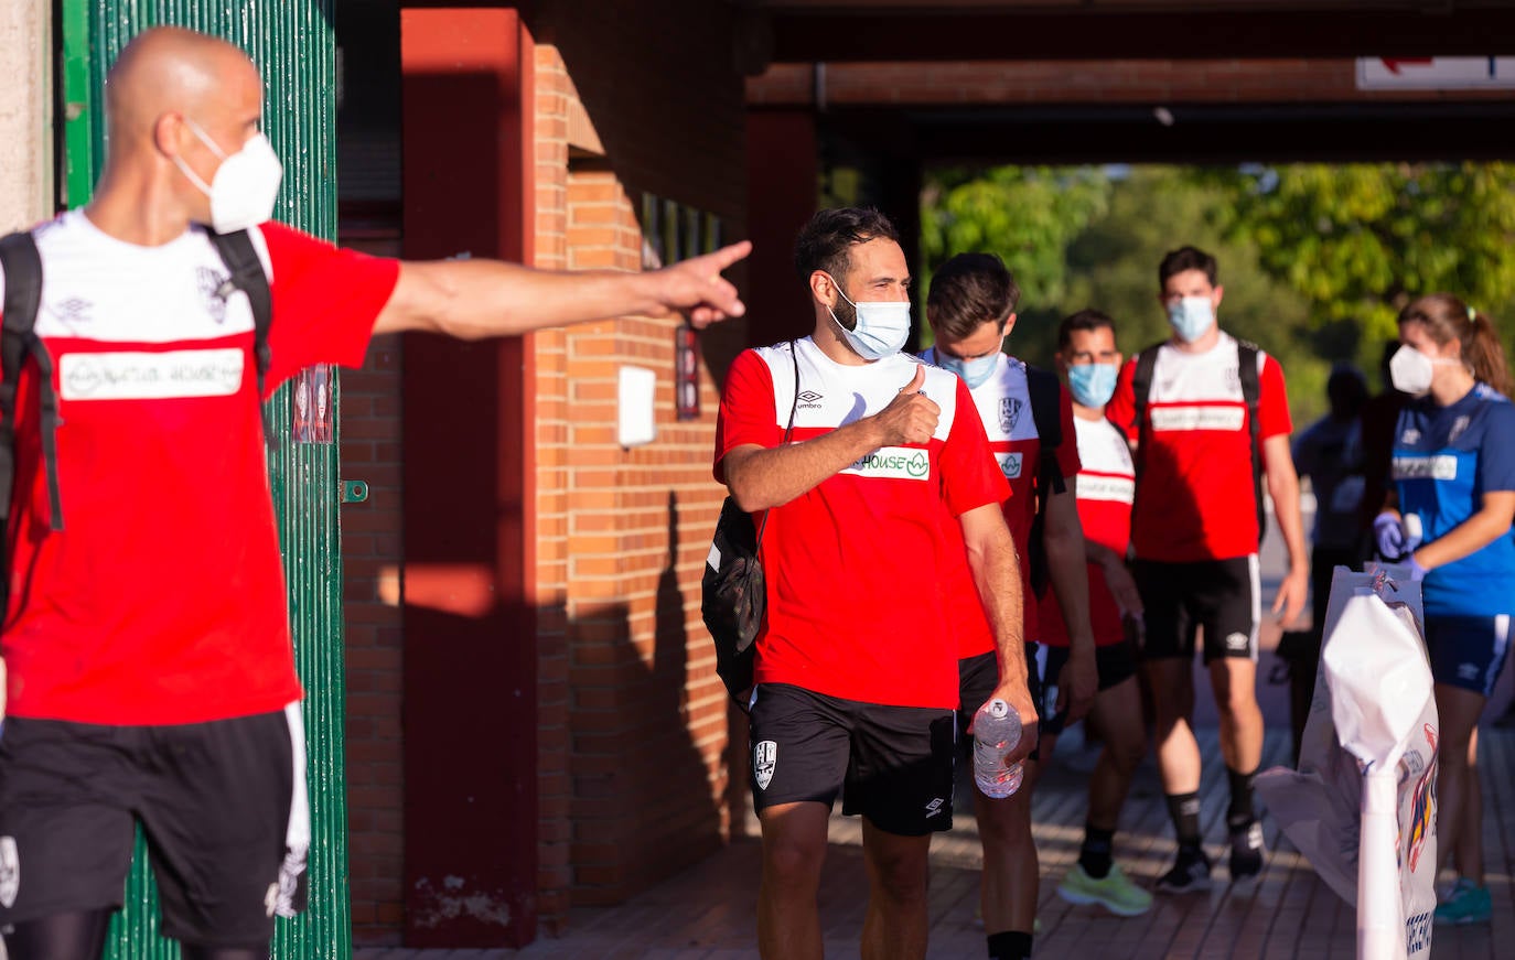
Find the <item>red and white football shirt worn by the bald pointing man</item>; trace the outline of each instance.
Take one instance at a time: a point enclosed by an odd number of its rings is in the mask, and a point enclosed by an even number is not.
[[[80,210],[39,227],[36,333],[59,397],[64,531],[50,507],[36,368],[18,383],[8,712],[185,724],[300,698],[268,489],[253,316],[195,227],[161,247]],[[395,260],[268,223],[273,389],[301,366],[362,363]]]

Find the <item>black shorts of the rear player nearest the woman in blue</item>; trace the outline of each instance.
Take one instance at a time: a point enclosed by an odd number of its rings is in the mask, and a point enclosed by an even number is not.
[[[1262,600],[1257,554],[1229,560],[1132,565],[1145,609],[1142,659],[1194,659],[1195,633],[1204,628],[1204,662],[1223,657],[1257,660]]]

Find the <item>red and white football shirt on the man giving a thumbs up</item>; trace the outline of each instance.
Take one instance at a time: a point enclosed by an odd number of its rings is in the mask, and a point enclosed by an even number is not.
[[[732,363],[715,427],[721,459],[747,444],[777,447],[798,389],[791,442],[809,441],[886,407],[920,368],[906,354],[848,366],[809,338],[747,350]],[[762,541],[768,616],[758,636],[758,683],[906,707],[957,704],[957,654],[942,622],[941,571],[962,562],[942,516],[1007,495],[973,416],[967,386],[926,366],[921,391],[941,407],[920,447],[883,447],[795,500],[768,510]],[[762,513],[753,516],[764,522]]]

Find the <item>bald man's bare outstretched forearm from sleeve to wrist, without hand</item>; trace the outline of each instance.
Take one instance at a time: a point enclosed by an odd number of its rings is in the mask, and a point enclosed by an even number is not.
[[[483,259],[406,262],[374,332],[430,330],[483,339],[611,316],[656,315],[665,310],[653,277],[553,273]]]

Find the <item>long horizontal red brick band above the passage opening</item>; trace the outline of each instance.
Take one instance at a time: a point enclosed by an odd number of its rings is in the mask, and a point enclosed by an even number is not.
[[[830,106],[1479,100],[1507,91],[1359,91],[1356,61],[1004,61],[827,64]],[[814,103],[815,71],[777,64],[747,80],[753,106]]]

